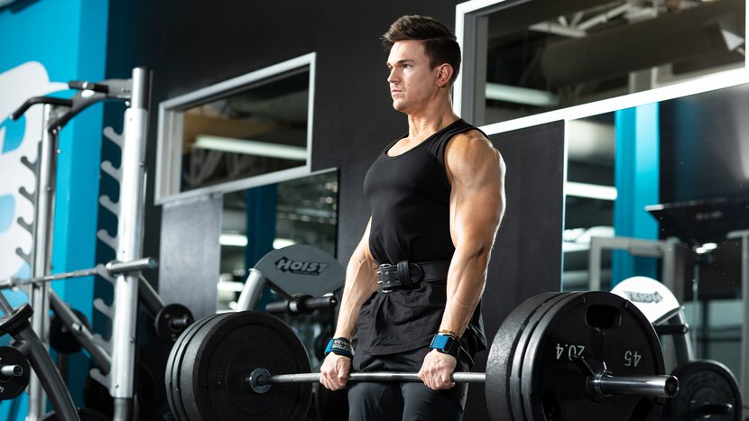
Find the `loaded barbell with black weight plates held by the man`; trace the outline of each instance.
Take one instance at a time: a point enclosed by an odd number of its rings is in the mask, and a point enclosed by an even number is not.
[[[307,351],[280,319],[259,312],[208,316],[171,349],[167,399],[178,420],[301,420],[311,399]],[[495,334],[486,405],[501,420],[656,420],[679,382],[664,375],[652,325],[606,292],[546,293],[522,303]],[[421,381],[417,373],[352,373],[349,381]]]

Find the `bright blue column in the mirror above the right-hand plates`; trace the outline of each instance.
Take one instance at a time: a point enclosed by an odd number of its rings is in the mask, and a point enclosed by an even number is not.
[[[644,207],[659,203],[660,130],[658,104],[615,113],[614,231],[619,237],[658,240],[658,224]],[[658,262],[614,252],[612,287],[632,276],[656,278]]]

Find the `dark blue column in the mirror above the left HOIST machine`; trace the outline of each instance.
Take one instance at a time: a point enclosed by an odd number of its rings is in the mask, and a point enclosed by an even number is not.
[[[272,184],[250,188],[246,193],[247,203],[247,247],[245,248],[245,268],[253,268],[265,254],[273,251],[276,233],[276,208],[278,206],[278,185]],[[265,287],[257,308],[264,309],[273,301],[270,288]]]

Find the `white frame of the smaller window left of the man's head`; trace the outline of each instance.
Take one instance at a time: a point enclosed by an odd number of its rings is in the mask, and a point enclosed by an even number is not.
[[[159,103],[158,141],[156,151],[156,186],[154,203],[163,205],[173,200],[199,197],[214,193],[227,193],[246,188],[254,188],[278,183],[292,178],[310,175],[312,172],[312,132],[315,102],[315,64],[317,53],[310,52],[294,59],[288,59],[272,66],[257,69],[245,75],[203,87],[187,94],[176,96]],[[225,181],[211,186],[180,191],[182,157],[183,111],[190,106],[205,103],[222,94],[230,94],[264,79],[272,79],[295,69],[309,68],[310,86],[307,108],[307,160],[304,165],[282,169],[266,174]]]

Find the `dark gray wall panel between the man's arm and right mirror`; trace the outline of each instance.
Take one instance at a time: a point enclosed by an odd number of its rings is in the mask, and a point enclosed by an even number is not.
[[[507,164],[507,205],[489,264],[482,313],[494,341],[504,318],[525,299],[561,287],[564,123],[490,136]],[[486,354],[473,371],[485,371]],[[468,394],[466,419],[488,419],[483,385]]]

